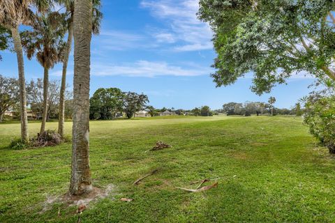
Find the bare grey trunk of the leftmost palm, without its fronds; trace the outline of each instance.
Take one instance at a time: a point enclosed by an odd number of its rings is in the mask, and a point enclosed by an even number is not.
[[[28,135],[28,118],[27,118],[27,93],[26,81],[24,79],[24,61],[21,37],[18,26],[10,29],[13,36],[14,48],[17,56],[17,67],[19,70],[19,85],[20,85],[20,119],[21,119],[21,139],[29,141]]]

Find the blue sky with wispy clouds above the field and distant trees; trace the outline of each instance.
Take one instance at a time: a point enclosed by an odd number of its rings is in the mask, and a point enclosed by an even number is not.
[[[225,102],[267,101],[291,107],[308,94],[311,77],[295,76],[270,94],[255,95],[251,76],[216,88],[210,73],[215,58],[211,30],[197,20],[198,0],[103,0],[101,34],[91,43],[91,94],[103,87],[117,87],[149,96],[154,107],[192,109]],[[0,74],[17,77],[15,54],[1,52]],[[36,59],[25,59],[26,79],[43,77]],[[50,79],[61,78],[61,64],[50,70]],[[67,82],[72,87],[73,54]]]

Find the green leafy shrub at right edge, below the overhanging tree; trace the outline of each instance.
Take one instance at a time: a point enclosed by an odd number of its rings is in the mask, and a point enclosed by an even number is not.
[[[304,123],[309,132],[327,146],[329,153],[335,153],[335,97],[311,95],[306,100]]]

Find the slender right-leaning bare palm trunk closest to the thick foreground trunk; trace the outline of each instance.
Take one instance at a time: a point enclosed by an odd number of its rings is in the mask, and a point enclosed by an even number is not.
[[[65,110],[65,89],[66,89],[66,70],[68,68],[68,56],[70,55],[73,38],[73,22],[68,25],[68,43],[66,44],[66,51],[63,61],[63,73],[61,75],[61,94],[59,97],[59,121],[58,133],[64,137],[64,110]]]

